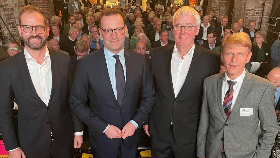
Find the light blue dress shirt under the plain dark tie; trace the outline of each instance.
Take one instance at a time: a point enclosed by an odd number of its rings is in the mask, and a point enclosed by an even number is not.
[[[110,78],[110,81],[112,84],[115,98],[117,99],[117,86],[116,86],[116,74],[115,74],[115,65],[116,65],[117,60],[113,57],[115,55],[114,53],[110,52],[105,47],[103,47],[103,48],[104,48],[104,55],[105,55],[105,59],[106,59],[109,78]],[[124,50],[122,49],[120,52],[118,52],[117,55],[119,55],[120,62],[122,63],[122,66],[123,66],[124,78],[125,78],[125,83],[126,83],[126,66],[125,66]],[[129,122],[133,123],[135,125],[135,128],[138,127],[138,124],[135,121],[130,120]],[[109,124],[107,125],[107,127],[105,128],[103,133],[107,130],[108,127],[109,127]]]

